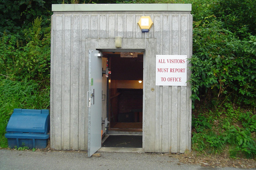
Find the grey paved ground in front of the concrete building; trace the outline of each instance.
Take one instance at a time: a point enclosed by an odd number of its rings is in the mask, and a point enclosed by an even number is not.
[[[87,157],[87,152],[18,151],[0,149],[0,169],[221,169],[181,164],[164,154],[134,152],[99,152],[101,157]]]

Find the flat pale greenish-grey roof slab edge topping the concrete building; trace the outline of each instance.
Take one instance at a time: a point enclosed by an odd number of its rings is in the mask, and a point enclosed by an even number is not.
[[[52,4],[52,11],[191,11],[191,4]]]

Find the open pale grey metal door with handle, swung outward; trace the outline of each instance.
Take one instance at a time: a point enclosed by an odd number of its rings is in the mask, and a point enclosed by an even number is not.
[[[101,148],[102,116],[102,54],[98,50],[89,50],[89,91],[87,106],[89,108],[88,156]]]

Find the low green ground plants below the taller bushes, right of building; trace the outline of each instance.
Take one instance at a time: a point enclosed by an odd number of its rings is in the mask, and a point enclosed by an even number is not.
[[[208,113],[200,112],[192,120],[192,148],[214,154],[228,148],[230,157],[255,158],[255,122],[255,115],[229,104]]]

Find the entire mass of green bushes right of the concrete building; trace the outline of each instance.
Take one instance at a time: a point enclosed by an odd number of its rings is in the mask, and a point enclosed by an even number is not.
[[[231,157],[254,158],[256,30],[250,9],[255,1],[192,3],[192,148],[210,153],[228,148]]]

